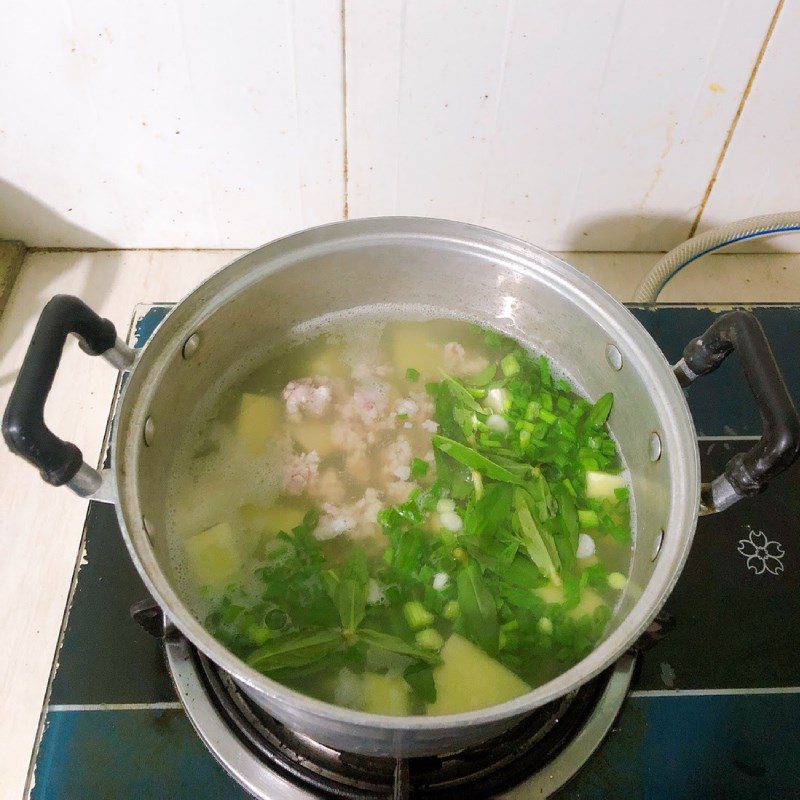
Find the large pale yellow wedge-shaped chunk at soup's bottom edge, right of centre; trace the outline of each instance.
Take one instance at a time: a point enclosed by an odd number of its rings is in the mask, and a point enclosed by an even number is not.
[[[531,690],[522,678],[486,655],[477,645],[454,633],[433,670],[436,702],[429,714],[458,714],[505,703]]]

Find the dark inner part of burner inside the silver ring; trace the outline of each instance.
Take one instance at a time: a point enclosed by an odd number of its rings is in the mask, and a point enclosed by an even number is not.
[[[395,760],[343,753],[297,734],[256,706],[230,676],[191,647],[190,658],[225,726],[265,768],[298,788],[346,800],[467,800],[517,786],[575,739],[613,672],[613,668],[606,671],[482,745],[441,756]]]

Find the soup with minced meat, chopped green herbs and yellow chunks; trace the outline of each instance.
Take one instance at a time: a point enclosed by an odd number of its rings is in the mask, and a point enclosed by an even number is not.
[[[454,319],[307,328],[189,420],[182,595],[254,669],[393,715],[505,702],[603,636],[632,548],[613,397]]]

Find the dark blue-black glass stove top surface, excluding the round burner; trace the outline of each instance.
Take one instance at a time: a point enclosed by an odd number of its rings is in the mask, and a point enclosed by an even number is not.
[[[147,341],[170,306],[141,306]],[[633,308],[671,361],[713,308]],[[800,308],[754,309],[800,397]],[[688,390],[703,477],[750,446],[760,419],[736,359]],[[800,465],[700,519],[614,729],[559,798],[800,798]],[[146,596],[112,507],[91,503],[32,764],[34,800],[246,798],[193,731],[158,642],[130,618]],[[83,552],[82,552],[83,555]]]

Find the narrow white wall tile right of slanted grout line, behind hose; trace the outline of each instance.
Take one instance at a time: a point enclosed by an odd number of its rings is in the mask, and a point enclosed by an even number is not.
[[[699,230],[793,210],[800,210],[800,0],[784,3]],[[748,249],[800,251],[800,235]]]

